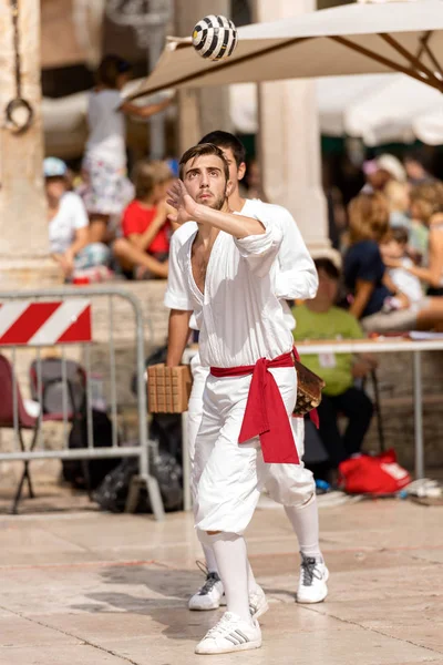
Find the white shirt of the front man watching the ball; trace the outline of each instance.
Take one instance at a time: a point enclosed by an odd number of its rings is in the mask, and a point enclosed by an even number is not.
[[[198,349],[206,367],[255,365],[290,351],[292,335],[274,293],[276,258],[282,241],[279,226],[260,218],[265,233],[234,238],[220,231],[207,265],[205,293],[192,269],[197,232],[177,254],[184,276],[187,309],[195,313],[200,331]]]

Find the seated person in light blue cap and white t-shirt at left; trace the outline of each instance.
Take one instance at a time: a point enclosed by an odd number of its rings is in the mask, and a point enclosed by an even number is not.
[[[76,272],[97,266],[107,276],[105,266],[110,260],[110,248],[103,243],[90,244],[89,218],[83,202],[78,194],[68,191],[66,164],[56,157],[47,157],[43,173],[50,250],[64,278],[72,279]]]

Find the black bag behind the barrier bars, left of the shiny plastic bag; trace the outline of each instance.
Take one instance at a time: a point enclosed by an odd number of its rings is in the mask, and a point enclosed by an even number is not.
[[[94,448],[112,446],[112,422],[104,411],[92,410]],[[69,448],[87,448],[87,418],[82,411],[73,421],[69,436]],[[103,478],[120,464],[121,458],[97,460],[63,460],[63,478],[74,488],[94,490]]]

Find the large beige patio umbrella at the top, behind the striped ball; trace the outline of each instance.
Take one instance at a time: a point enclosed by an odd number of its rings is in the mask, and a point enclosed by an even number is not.
[[[131,99],[165,88],[398,71],[443,90],[443,1],[348,4],[255,23],[222,62],[202,59],[190,38],[172,38]]]

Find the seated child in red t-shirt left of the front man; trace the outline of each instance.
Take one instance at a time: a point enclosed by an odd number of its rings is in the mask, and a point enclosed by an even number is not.
[[[126,276],[167,277],[171,224],[166,191],[173,175],[164,162],[142,161],[134,168],[135,200],[123,213],[123,238],[114,254]]]

